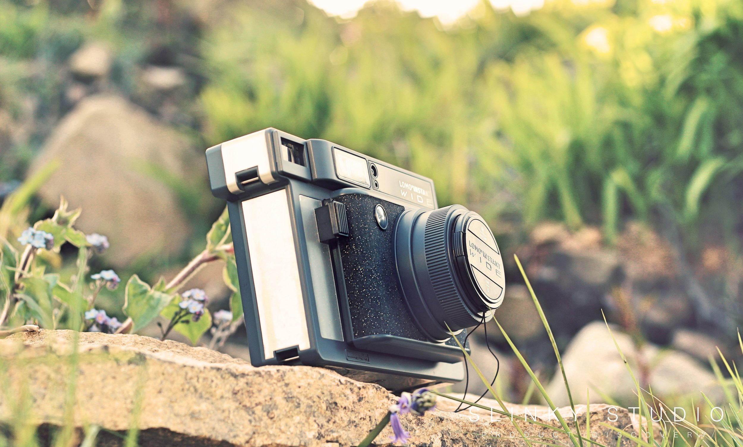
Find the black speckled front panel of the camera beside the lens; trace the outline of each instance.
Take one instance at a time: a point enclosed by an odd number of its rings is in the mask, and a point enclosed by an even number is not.
[[[348,215],[349,235],[339,238],[338,248],[354,337],[389,334],[426,341],[405,307],[395,267],[395,229],[405,208],[362,194],[334,200],[345,203]],[[386,230],[374,220],[377,204],[387,212]],[[463,340],[465,332],[457,338]],[[447,345],[456,343],[450,340]]]

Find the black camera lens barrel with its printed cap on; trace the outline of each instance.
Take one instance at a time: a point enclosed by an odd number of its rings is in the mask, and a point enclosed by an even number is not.
[[[503,261],[493,232],[461,205],[408,210],[395,234],[406,307],[429,339],[443,342],[493,317],[504,295]]]

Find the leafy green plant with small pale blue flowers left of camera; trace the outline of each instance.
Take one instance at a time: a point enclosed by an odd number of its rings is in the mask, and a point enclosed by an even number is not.
[[[166,283],[161,278],[158,284],[150,286],[137,275],[129,278],[123,304],[123,313],[129,318],[123,323],[94,307],[100,291],[104,287],[116,289],[120,278],[113,270],[88,275],[88,261],[108,248],[108,239],[97,234],[85,235],[75,229],[80,212],[80,209],[68,210],[62,198],[52,218],[38,221],[22,233],[18,238],[22,247],[16,248],[7,239],[0,238],[0,292],[4,295],[0,327],[5,324],[27,327],[23,325],[33,323],[48,329],[120,333],[140,330],[163,316],[169,320],[167,328],[163,329],[163,339],[170,330],[176,330],[195,345],[212,327],[209,310],[205,307],[208,298],[203,290],[192,289],[178,294],[178,289],[204,264],[224,259],[227,261],[224,278],[235,292],[230,299],[232,313],[227,325],[230,329],[221,329],[222,332],[227,330],[221,334],[222,339],[236,330],[233,326],[239,323],[232,323],[241,322],[242,307],[236,291],[237,270],[226,209],[207,234],[207,248],[172,281]],[[48,272],[62,244],[77,247],[77,270],[69,278]]]

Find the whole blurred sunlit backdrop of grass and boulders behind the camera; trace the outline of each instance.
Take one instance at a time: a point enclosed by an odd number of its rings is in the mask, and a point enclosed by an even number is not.
[[[614,350],[604,314],[673,354],[639,362],[654,391],[678,385],[666,395],[714,381],[716,346],[739,353],[740,1],[0,0],[0,238],[16,251],[64,195],[111,241],[94,269],[172,278],[224,209],[204,149],[269,126],[424,174],[439,205],[483,215],[508,280],[496,316],[545,382],[562,387],[513,254],[607,402],[635,397],[580,355]],[[77,274],[65,247],[39,260],[60,281]],[[189,287],[217,310],[232,292],[214,266]],[[126,318],[123,290],[98,300]],[[504,396],[535,402],[488,331]],[[226,347],[244,356],[244,334]]]

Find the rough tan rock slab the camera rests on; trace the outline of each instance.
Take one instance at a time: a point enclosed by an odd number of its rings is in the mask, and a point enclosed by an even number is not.
[[[142,447],[345,447],[357,445],[395,402],[379,385],[355,382],[323,368],[253,368],[205,348],[134,335],[81,333],[74,350],[73,337],[71,331],[42,330],[0,341],[4,383],[10,385],[0,394],[0,418],[7,419],[25,395],[36,411],[33,422],[58,423],[65,414],[65,396],[74,390],[78,427],[97,424],[123,433],[134,420],[141,430]],[[78,355],[70,356],[72,352]],[[76,385],[70,388],[75,376]],[[482,402],[494,405],[490,400]],[[439,409],[424,417],[403,415],[410,445],[522,445],[509,417],[496,414],[491,422],[490,411],[446,411],[455,405],[439,399]],[[514,414],[527,411],[506,406]],[[569,408],[560,411],[571,415]],[[559,424],[548,408],[530,406],[528,414],[551,426]],[[585,406],[577,408],[577,422],[585,427]],[[617,445],[617,437],[599,422],[632,427],[627,411],[592,405],[592,437],[609,446]],[[568,442],[565,434],[518,423],[530,436]],[[385,428],[377,445],[389,444],[391,434]],[[107,431],[101,431],[100,437],[105,445],[122,443]],[[629,446],[626,440],[625,445]]]

